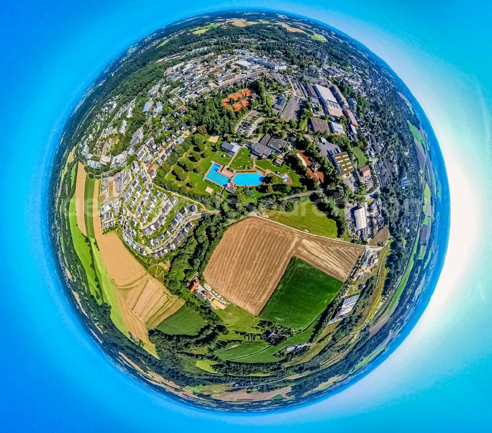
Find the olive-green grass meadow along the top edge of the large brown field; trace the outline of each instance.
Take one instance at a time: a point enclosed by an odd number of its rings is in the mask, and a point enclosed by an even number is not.
[[[267,210],[272,221],[285,224],[293,229],[308,231],[325,237],[337,237],[337,223],[320,212],[312,201],[304,201],[297,205],[292,212]]]

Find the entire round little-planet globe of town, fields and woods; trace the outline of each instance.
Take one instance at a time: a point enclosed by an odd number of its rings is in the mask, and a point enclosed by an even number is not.
[[[309,19],[221,11],[139,40],[68,119],[53,248],[92,338],[215,410],[340,390],[427,304],[437,142],[396,74]]]

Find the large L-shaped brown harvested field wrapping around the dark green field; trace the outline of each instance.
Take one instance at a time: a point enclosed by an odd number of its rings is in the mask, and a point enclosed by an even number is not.
[[[345,281],[363,250],[361,245],[251,217],[224,233],[204,277],[220,295],[257,315],[293,256]]]

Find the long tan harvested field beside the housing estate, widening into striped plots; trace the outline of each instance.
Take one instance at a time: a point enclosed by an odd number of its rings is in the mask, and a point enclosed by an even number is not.
[[[99,194],[99,182],[97,179],[94,199]],[[184,301],[171,295],[160,281],[150,275],[116,233],[102,233],[99,212],[94,212],[93,222],[97,247],[115,285],[125,325],[137,338],[152,345],[147,329],[155,328],[178,311]]]

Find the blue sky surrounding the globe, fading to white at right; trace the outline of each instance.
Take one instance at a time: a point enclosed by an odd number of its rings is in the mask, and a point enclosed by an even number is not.
[[[439,2],[437,2],[439,3]],[[64,298],[46,242],[46,170],[63,122],[110,60],[145,34],[205,10],[245,2],[17,1],[0,18],[3,133],[0,219],[2,431],[450,431],[489,426],[491,9],[348,1],[271,2],[349,34],[385,60],[427,113],[451,188],[443,273],[413,331],[380,366],[328,399],[269,415],[187,408],[122,374]],[[255,2],[248,5],[258,6]],[[474,15],[474,14],[477,15]],[[437,19],[439,18],[439,19]],[[460,31],[456,24],[460,21]],[[480,23],[483,23],[480,26]],[[480,45],[480,44],[478,44]]]

